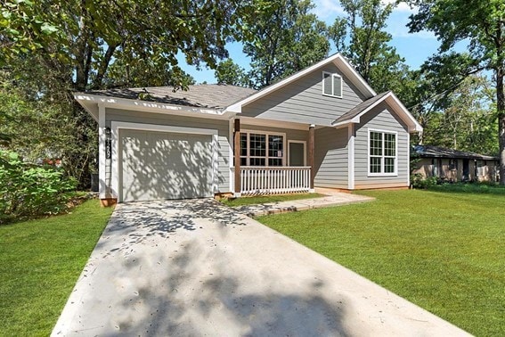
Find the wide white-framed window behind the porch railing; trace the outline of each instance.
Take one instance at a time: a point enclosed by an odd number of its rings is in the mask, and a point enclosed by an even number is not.
[[[284,135],[240,132],[241,166],[283,166]]]

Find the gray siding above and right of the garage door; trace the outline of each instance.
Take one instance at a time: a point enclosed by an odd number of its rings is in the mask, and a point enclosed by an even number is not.
[[[105,112],[105,123],[107,127],[111,126],[111,121],[166,125],[174,127],[197,127],[217,130],[217,188],[219,190],[218,192],[220,193],[230,192],[230,144],[228,142],[228,120],[201,119],[185,116],[166,115],[163,113],[107,109]],[[108,181],[110,184],[110,179],[108,179]]]

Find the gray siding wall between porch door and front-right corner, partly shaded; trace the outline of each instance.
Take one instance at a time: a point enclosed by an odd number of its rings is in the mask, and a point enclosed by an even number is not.
[[[314,138],[315,187],[347,188],[347,128],[319,128]]]

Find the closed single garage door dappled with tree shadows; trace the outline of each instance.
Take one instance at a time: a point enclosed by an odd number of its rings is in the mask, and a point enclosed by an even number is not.
[[[122,129],[121,201],[212,196],[212,136]]]

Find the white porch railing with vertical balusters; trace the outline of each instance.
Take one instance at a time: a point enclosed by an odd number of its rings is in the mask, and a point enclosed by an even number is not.
[[[241,194],[300,193],[310,190],[310,167],[241,167]]]

